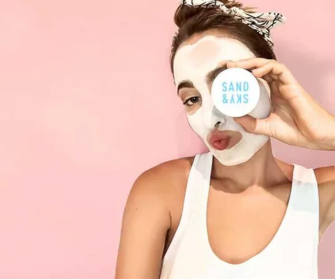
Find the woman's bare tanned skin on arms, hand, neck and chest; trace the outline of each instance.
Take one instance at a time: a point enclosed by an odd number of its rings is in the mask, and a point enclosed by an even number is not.
[[[208,34],[213,33],[191,37],[184,45]],[[312,99],[285,65],[248,59],[228,62],[227,67],[257,69],[254,75],[263,77],[272,90],[274,112],[268,118],[234,119],[247,132],[309,149],[335,150],[335,116]],[[116,279],[159,278],[163,255],[181,219],[193,159],[162,163],[135,181],[123,215]],[[236,176],[236,172],[245,175]],[[321,240],[335,220],[335,166],[319,167],[314,173],[320,196]],[[274,157],[270,141],[241,165],[227,167],[214,158],[207,229],[219,258],[238,264],[269,244],[287,208],[292,174],[292,165]],[[248,230],[243,229],[246,225]]]

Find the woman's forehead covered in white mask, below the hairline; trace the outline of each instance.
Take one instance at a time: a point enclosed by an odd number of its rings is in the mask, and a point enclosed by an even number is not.
[[[204,80],[208,72],[224,61],[252,57],[254,54],[240,41],[209,35],[177,50],[174,57],[174,81],[178,85],[183,80]]]

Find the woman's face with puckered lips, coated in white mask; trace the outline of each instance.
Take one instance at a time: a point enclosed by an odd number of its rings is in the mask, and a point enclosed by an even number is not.
[[[245,132],[233,118],[216,110],[210,95],[212,82],[225,70],[227,61],[252,57],[254,54],[236,39],[204,34],[186,41],[174,58],[174,82],[185,106],[188,122],[223,165],[245,163],[269,139]],[[260,101],[250,115],[266,118],[271,110],[270,90],[265,81],[259,83]]]

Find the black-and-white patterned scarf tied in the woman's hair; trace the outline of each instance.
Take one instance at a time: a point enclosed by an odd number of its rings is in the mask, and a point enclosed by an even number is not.
[[[180,0],[180,3],[194,8],[218,8],[225,12],[225,14],[256,30],[269,43],[271,48],[274,47],[274,42],[270,30],[286,21],[283,14],[279,14],[278,12],[245,12],[237,7],[227,8],[221,1]]]

